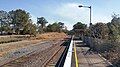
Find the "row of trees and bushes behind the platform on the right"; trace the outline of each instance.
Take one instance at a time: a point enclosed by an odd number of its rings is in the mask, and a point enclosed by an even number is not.
[[[90,23],[89,27],[82,22],[73,25],[73,29],[69,34],[84,35],[99,39],[120,39],[120,17],[116,14],[112,15],[111,22]]]

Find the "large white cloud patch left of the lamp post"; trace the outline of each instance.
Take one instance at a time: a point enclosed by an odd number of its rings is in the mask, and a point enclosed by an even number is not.
[[[64,3],[54,10],[54,14],[59,17],[67,26],[72,29],[77,22],[89,24],[89,9],[79,8],[79,3]]]

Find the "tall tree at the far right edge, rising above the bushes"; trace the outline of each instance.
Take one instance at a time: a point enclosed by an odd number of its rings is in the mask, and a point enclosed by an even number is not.
[[[107,23],[109,29],[109,38],[117,40],[120,38],[120,17],[114,14],[112,15],[113,19],[111,22]]]

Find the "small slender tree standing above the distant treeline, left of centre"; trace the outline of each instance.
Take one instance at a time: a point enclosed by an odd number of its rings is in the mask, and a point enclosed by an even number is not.
[[[46,24],[47,24],[47,20],[44,18],[44,17],[40,17],[40,18],[37,18],[37,24],[41,24],[41,26],[39,26],[39,28],[41,28],[41,32],[44,32],[44,29],[46,28]],[[40,32],[40,29],[39,29],[39,32]]]

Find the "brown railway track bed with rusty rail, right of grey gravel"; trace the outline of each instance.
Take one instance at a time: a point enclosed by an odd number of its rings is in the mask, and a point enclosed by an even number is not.
[[[62,43],[63,41],[60,41],[46,50],[31,52],[0,67],[47,67],[55,65],[65,49],[64,46],[61,46]]]

